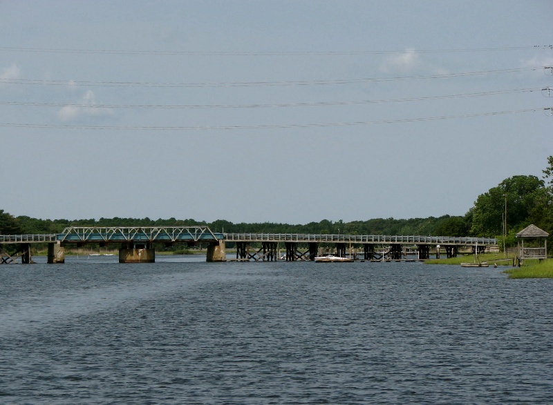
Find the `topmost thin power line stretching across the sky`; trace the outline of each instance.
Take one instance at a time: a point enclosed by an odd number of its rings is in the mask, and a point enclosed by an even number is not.
[[[203,50],[115,50],[115,49],[63,49],[63,48],[17,48],[0,47],[0,52],[37,52],[68,54],[108,54],[108,55],[168,55],[168,56],[342,56],[342,55],[397,55],[404,53],[455,53],[455,52],[505,52],[550,48],[550,46],[503,46],[498,48],[450,48],[423,50],[330,50],[330,51],[203,51]]]

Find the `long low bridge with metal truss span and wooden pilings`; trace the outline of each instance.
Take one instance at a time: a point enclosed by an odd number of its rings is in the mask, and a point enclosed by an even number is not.
[[[286,261],[314,260],[320,246],[333,246],[333,253],[363,255],[367,260],[405,257],[407,249],[415,250],[418,259],[429,259],[431,248],[437,257],[444,250],[447,257],[455,257],[460,247],[471,247],[482,252],[498,243],[494,238],[404,236],[404,235],[326,235],[298,233],[214,233],[207,226],[115,226],[71,227],[62,233],[50,235],[0,235],[0,263],[32,263],[31,246],[48,244],[48,263],[64,262],[64,247],[99,244],[118,244],[120,263],[153,263],[155,245],[185,243],[189,246],[207,245],[207,261],[226,261],[227,242],[236,244],[236,260],[274,261],[281,259],[280,247],[285,248]],[[8,255],[2,247],[19,246],[18,252]],[[353,249],[353,250],[352,250]],[[349,250],[349,252],[348,252]],[[362,253],[361,253],[362,250]],[[354,253],[352,253],[354,252]]]

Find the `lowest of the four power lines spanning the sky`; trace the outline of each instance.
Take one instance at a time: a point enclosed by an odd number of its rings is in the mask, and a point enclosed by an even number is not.
[[[0,123],[0,127],[11,128],[48,128],[48,129],[73,129],[73,130],[163,130],[163,131],[196,131],[196,130],[263,130],[277,128],[324,128],[338,126],[364,126],[376,124],[398,124],[405,122],[420,121],[440,121],[444,119],[458,119],[469,117],[489,117],[492,115],[518,114],[522,112],[547,111],[551,108],[530,108],[526,110],[480,112],[476,114],[463,115],[444,115],[441,117],[422,117],[405,119],[386,119],[382,121],[355,121],[355,122],[337,122],[337,123],[315,123],[315,124],[269,124],[269,125],[232,125],[232,126],[82,126],[82,125],[57,125],[57,124],[18,124],[18,123]]]

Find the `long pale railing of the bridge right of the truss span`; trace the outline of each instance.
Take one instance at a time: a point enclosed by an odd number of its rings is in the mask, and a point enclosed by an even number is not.
[[[225,233],[226,241],[290,241],[355,244],[495,245],[495,238],[416,235],[318,235],[304,233]]]

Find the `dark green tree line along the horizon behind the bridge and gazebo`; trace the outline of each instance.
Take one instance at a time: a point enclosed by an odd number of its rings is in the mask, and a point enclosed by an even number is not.
[[[507,213],[507,221],[505,221]],[[507,228],[505,229],[505,224]],[[550,233],[548,246],[553,248],[553,156],[547,158],[543,179],[517,175],[479,195],[464,216],[443,215],[428,218],[376,218],[366,221],[330,221],[309,224],[272,222],[239,223],[218,219],[213,222],[195,219],[100,218],[37,219],[14,217],[0,210],[0,234],[62,233],[70,226],[209,226],[225,233],[311,233],[346,235],[438,235],[499,237],[507,235],[507,246],[516,244],[515,234],[529,224]]]

